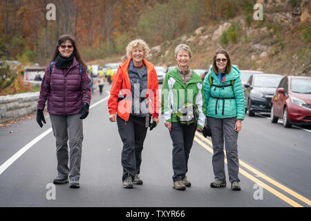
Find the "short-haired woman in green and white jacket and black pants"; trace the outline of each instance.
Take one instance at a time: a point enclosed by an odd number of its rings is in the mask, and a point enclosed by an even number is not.
[[[177,67],[167,73],[162,86],[162,118],[173,142],[173,188],[185,190],[189,153],[196,130],[205,126],[202,79],[189,68],[192,52],[180,44],[175,49]]]

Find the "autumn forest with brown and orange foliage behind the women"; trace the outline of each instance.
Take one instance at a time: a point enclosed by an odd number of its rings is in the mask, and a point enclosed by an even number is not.
[[[55,20],[46,19],[48,3],[55,5]],[[0,58],[46,65],[57,38],[64,34],[73,35],[86,61],[123,55],[132,39],[156,46],[233,17],[244,4],[241,0],[2,0]]]

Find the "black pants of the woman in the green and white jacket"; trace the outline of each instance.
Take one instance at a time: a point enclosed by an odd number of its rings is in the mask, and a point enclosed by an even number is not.
[[[171,123],[171,140],[173,141],[173,182],[183,180],[188,172],[189,153],[194,143],[196,133],[196,123],[180,124]]]

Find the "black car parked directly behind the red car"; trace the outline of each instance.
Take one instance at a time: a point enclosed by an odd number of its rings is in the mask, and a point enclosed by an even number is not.
[[[256,112],[270,113],[271,99],[283,75],[256,74],[251,75],[245,86],[245,111],[249,117]]]

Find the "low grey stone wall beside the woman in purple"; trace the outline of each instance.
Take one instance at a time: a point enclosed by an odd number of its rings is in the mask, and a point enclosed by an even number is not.
[[[0,96],[0,124],[37,110],[39,92]]]

